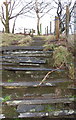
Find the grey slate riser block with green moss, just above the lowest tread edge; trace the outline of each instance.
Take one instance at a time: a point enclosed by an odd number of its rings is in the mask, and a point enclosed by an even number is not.
[[[18,113],[38,113],[38,112],[42,112],[42,111],[56,112],[59,107],[58,105],[59,104],[57,104],[57,105],[55,105],[55,104],[53,104],[53,105],[52,104],[48,104],[48,105],[18,105],[17,112]],[[63,107],[63,104],[61,104],[61,106]],[[64,107],[65,107],[65,105],[64,105]],[[66,107],[64,109],[66,109]],[[71,108],[71,110],[72,110],[72,112],[74,112],[73,108]],[[64,112],[65,110],[62,109],[62,111]],[[68,109],[67,112],[69,112],[69,111],[70,110]]]

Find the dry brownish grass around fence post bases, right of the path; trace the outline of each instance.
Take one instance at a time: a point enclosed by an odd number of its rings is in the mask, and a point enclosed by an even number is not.
[[[65,47],[67,46],[66,37],[64,34],[60,35],[60,38],[58,41],[56,41],[55,35],[44,36],[44,40],[46,41],[44,45],[45,49],[51,49],[51,46],[52,46],[51,44],[55,46],[60,46],[60,45]],[[74,48],[75,48],[74,35],[69,35],[68,37],[68,48],[71,52],[74,52]]]

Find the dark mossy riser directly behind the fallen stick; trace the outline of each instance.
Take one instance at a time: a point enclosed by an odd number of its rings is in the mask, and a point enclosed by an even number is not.
[[[47,72],[48,71],[32,71],[32,70],[31,71],[10,71],[10,70],[8,71],[8,70],[3,70],[2,71],[2,81],[3,82],[7,82],[8,80],[13,80],[15,82],[42,81],[42,79],[45,77]],[[65,72],[66,71],[61,71],[61,72],[59,72],[59,74],[58,74],[58,72],[53,72],[46,78],[46,81],[59,81],[59,80],[60,81],[69,81],[69,79],[67,78],[67,74]]]

